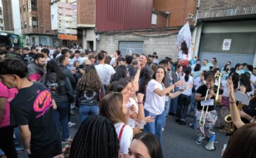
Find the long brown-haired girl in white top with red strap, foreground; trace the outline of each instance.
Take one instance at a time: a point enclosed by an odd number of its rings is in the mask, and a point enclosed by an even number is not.
[[[124,158],[129,157],[128,147],[132,142],[132,127],[125,124],[126,120],[122,112],[122,93],[110,92],[101,100],[100,114],[110,119],[115,125],[117,137],[120,140],[120,152]]]

